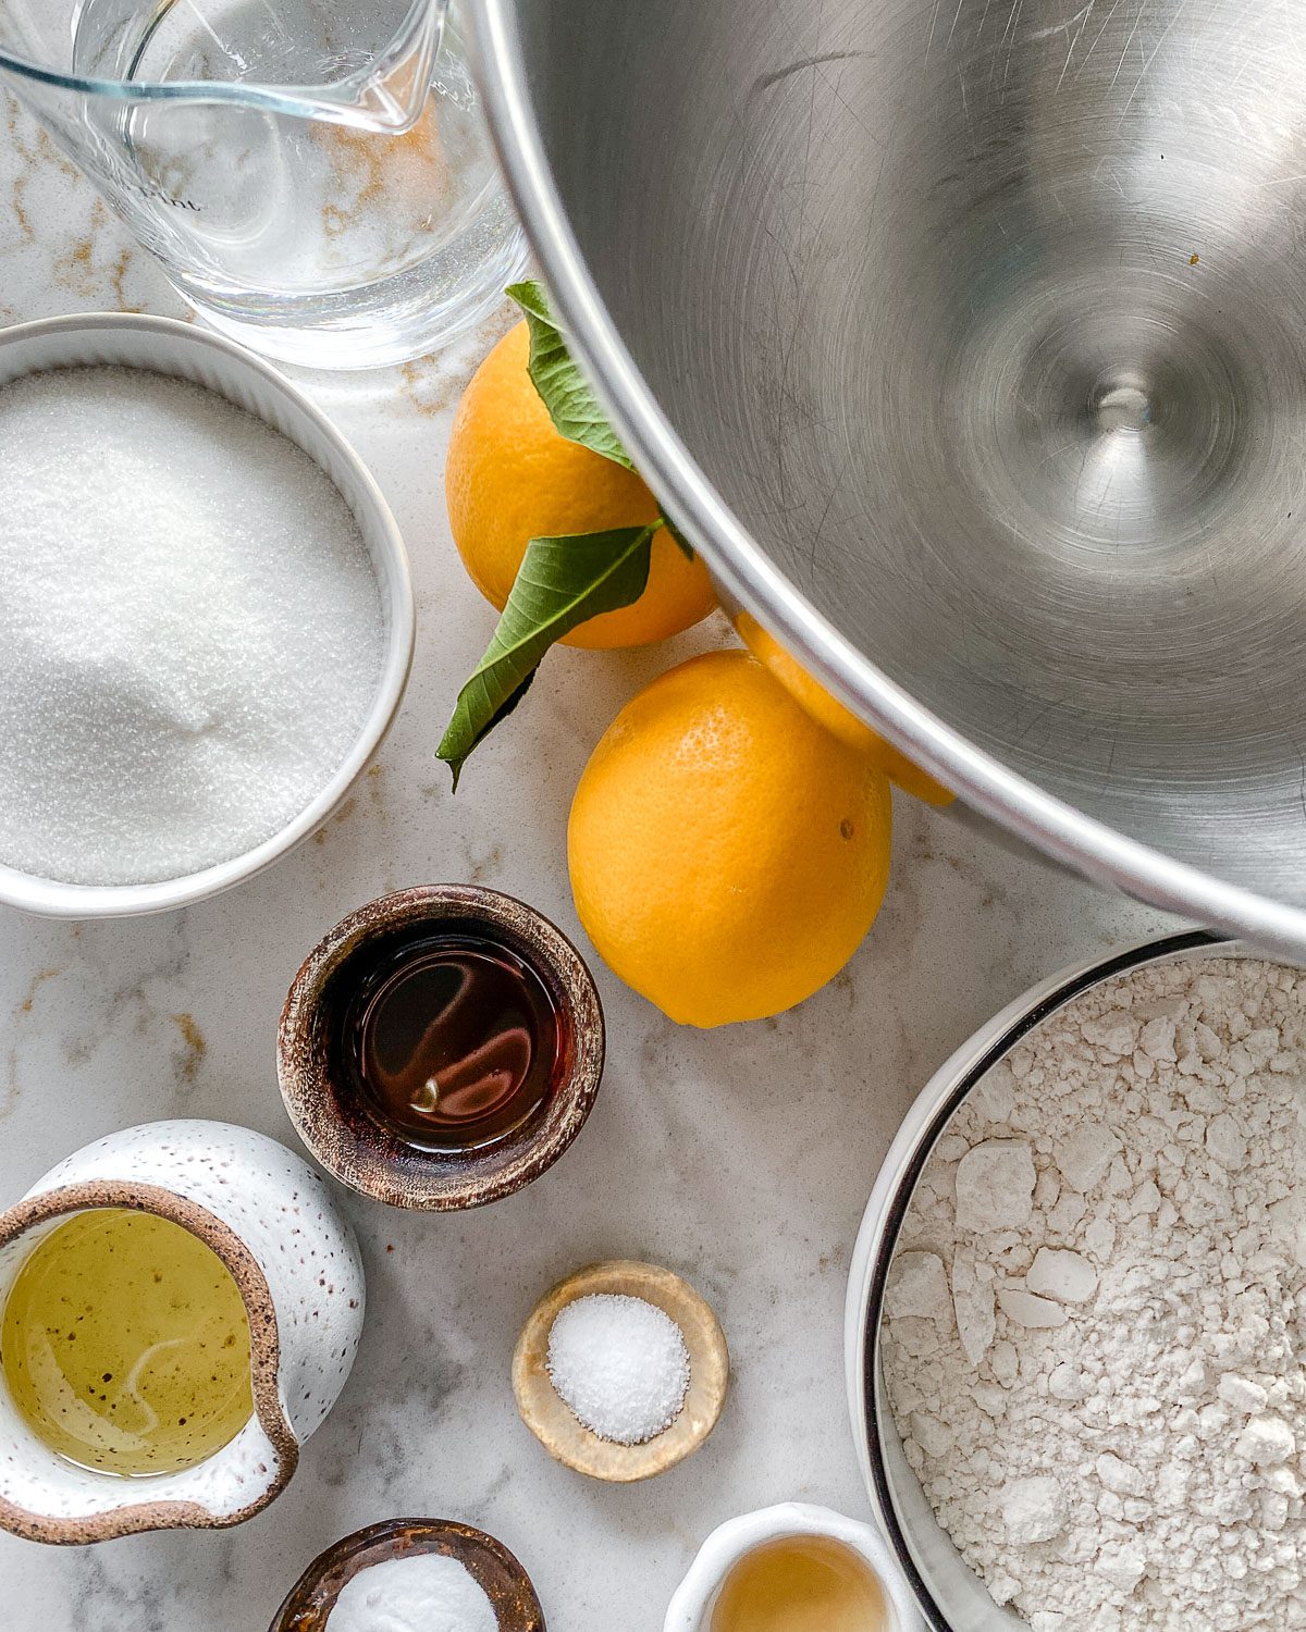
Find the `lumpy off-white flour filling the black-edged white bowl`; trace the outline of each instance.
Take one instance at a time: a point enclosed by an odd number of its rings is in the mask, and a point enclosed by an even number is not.
[[[886,1293],[908,1461],[1033,1632],[1306,1627],[1306,978],[1143,969],[948,1124]]]

